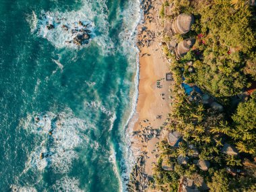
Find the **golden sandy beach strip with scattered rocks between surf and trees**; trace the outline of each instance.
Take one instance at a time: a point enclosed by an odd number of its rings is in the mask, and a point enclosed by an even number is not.
[[[133,117],[132,149],[136,156],[143,154],[146,158],[145,174],[152,176],[152,166],[158,152],[156,143],[170,112],[169,87],[166,81],[169,64],[160,46],[162,26],[159,9],[161,1],[152,1],[152,9],[144,15],[144,23],[138,26],[139,46],[139,96],[136,113]],[[148,42],[143,42],[143,41]]]

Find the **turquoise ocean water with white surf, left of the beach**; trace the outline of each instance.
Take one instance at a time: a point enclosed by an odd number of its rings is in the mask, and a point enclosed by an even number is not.
[[[0,191],[125,191],[139,1],[0,0],[0,15]],[[90,44],[43,15],[90,22]]]

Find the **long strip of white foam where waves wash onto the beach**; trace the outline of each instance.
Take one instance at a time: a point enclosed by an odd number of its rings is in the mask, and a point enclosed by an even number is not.
[[[134,83],[135,83],[135,90],[133,92],[132,97],[132,107],[131,107],[131,113],[127,119],[127,122],[125,123],[125,146],[123,146],[121,143],[121,150],[123,151],[123,154],[125,155],[125,158],[121,161],[121,164],[123,164],[123,172],[121,174],[121,177],[123,179],[122,182],[122,191],[127,191],[127,181],[129,179],[129,174],[131,173],[131,170],[133,168],[133,165],[135,164],[135,156],[133,156],[133,152],[131,151],[131,138],[130,134],[131,131],[133,131],[133,127],[131,126],[131,119],[133,115],[135,114],[136,106],[137,106],[137,98],[138,98],[138,86],[139,86],[139,49],[136,46],[137,43],[137,26],[139,22],[143,19],[143,13],[142,10],[139,7],[140,1],[134,0],[129,1],[127,3],[127,9],[123,11],[123,32],[119,34],[119,38],[123,40],[122,43],[122,53],[126,53],[129,61],[131,63],[131,68],[129,71],[135,70],[135,77],[134,77]],[[136,60],[134,61],[134,57]],[[136,65],[133,65],[135,63]],[[128,125],[130,125],[128,127]]]

